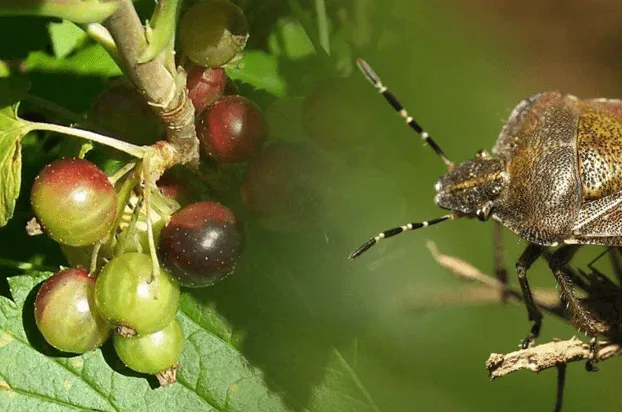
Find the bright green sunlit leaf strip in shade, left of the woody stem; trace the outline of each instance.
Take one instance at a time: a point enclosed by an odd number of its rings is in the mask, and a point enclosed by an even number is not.
[[[27,71],[102,77],[122,74],[112,57],[98,44],[86,46],[64,59],[57,59],[41,51],[32,52],[24,61],[24,68]]]

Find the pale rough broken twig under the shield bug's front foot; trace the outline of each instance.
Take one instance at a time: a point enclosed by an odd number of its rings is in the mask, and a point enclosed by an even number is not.
[[[622,347],[619,344],[602,343],[598,349],[598,358],[606,360],[621,353]],[[490,378],[496,379],[522,369],[538,373],[589,358],[590,345],[573,337],[570,340],[549,342],[507,354],[493,353],[486,361],[486,369]]]

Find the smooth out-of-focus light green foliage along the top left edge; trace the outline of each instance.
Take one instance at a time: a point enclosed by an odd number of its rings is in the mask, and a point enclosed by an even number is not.
[[[117,4],[98,0],[0,0],[0,16],[47,16],[76,23],[98,23],[114,13]]]

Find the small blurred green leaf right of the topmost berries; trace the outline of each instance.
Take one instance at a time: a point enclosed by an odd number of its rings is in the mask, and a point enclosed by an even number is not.
[[[279,74],[276,57],[263,51],[247,52],[241,61],[241,68],[228,69],[227,74],[234,80],[264,89],[275,96],[285,95],[285,81]]]

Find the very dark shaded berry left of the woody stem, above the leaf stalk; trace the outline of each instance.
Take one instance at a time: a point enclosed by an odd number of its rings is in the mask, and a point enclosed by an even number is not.
[[[88,117],[111,136],[137,145],[150,145],[162,134],[162,124],[153,109],[135,87],[126,84],[105,90]]]

